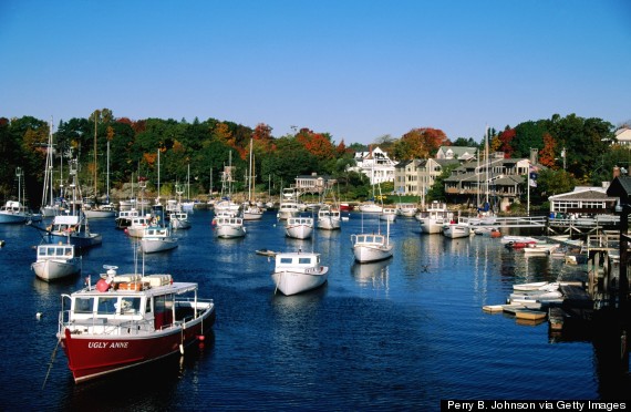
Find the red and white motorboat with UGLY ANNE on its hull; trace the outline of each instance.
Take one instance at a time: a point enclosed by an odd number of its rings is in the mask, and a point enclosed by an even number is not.
[[[215,303],[197,284],[104,268],[95,285],[62,295],[56,338],[76,383],[185,353],[211,331]]]

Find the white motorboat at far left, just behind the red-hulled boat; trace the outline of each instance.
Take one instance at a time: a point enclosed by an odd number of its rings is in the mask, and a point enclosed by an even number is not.
[[[43,244],[38,246],[31,269],[42,280],[56,280],[79,274],[81,257],[75,256],[73,245]]]

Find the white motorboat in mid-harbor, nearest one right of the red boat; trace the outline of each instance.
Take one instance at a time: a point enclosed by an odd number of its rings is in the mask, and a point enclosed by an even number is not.
[[[279,253],[271,278],[276,290],[283,295],[296,295],[316,289],[327,281],[328,266],[321,266],[317,253]],[[276,291],[275,291],[276,292]]]

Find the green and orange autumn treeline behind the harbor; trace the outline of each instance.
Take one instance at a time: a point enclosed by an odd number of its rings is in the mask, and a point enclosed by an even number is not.
[[[2,199],[17,194],[14,171],[19,166],[25,177],[27,198],[31,206],[39,205],[50,127],[50,121],[32,116],[0,117]],[[625,161],[628,165],[629,162],[629,153],[617,147],[613,132],[612,124],[600,119],[554,115],[550,120],[506,126],[501,132],[490,128],[489,140],[493,151],[503,151],[510,157],[528,157],[530,148],[536,147],[540,163],[550,171],[565,171],[569,184],[599,184],[610,179],[604,176],[610,176],[614,164]],[[219,190],[221,172],[229,159],[236,169],[232,177],[239,190],[246,185],[250,140],[258,192],[278,194],[292,184],[296,176],[313,172],[338,178],[348,199],[361,199],[370,192],[365,178],[346,171],[354,164],[354,152],[368,147],[359,143],[346,146],[343,140],[335,143],[329,133],[301,128],[275,137],[272,128],[262,123],[251,128],[216,119],[132,121],[115,117],[108,109],[96,110],[87,119],[60,121],[53,127],[55,176],[61,163],[66,169],[69,158],[79,158],[82,185],[93,186],[96,175],[99,190],[104,193],[108,142],[112,188],[130,183],[132,174],[156,184],[159,151],[161,186],[164,185],[167,194],[176,182],[187,183],[188,171],[192,196]],[[373,143],[393,159],[403,161],[432,157],[441,145],[482,147],[484,141],[484,136],[451,141],[441,130],[425,127],[413,128],[399,138],[381,136]],[[563,148],[565,158],[561,157]],[[546,187],[539,188],[542,195],[546,190]]]

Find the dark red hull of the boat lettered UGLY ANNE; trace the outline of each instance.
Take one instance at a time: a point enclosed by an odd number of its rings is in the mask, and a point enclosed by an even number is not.
[[[211,331],[215,310],[199,322],[187,327],[156,331],[154,334],[104,339],[94,336],[71,334],[64,330],[62,347],[75,382],[82,382],[123,369],[165,358],[195,342],[199,336]]]

